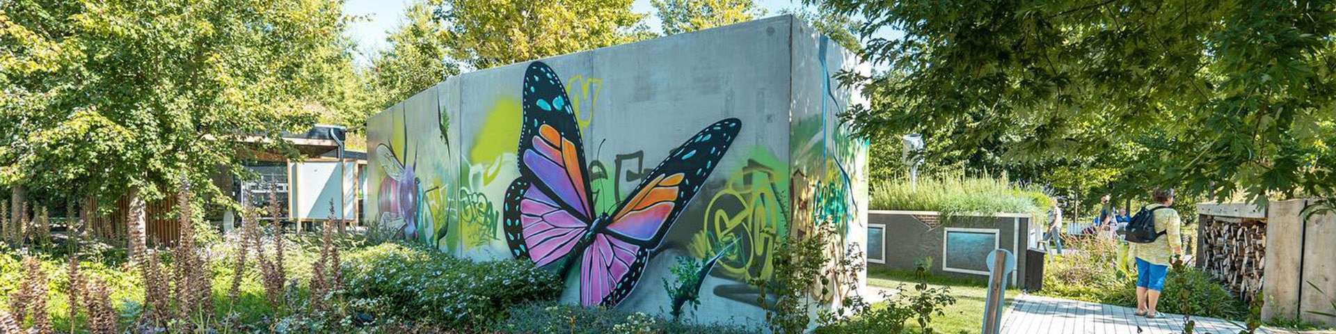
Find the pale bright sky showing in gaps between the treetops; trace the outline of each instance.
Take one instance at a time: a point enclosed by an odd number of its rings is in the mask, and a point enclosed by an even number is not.
[[[350,33],[357,41],[358,61],[366,61],[365,55],[371,55],[385,48],[385,36],[399,24],[403,8],[413,0],[347,0],[343,7],[345,15],[363,16],[365,19],[351,24]],[[782,9],[800,8],[800,0],[756,0],[756,4],[766,8],[766,16],[778,15]],[[652,31],[660,31],[659,17],[652,15],[653,7],[649,0],[635,0],[632,11],[637,13],[651,13],[645,23]]]

